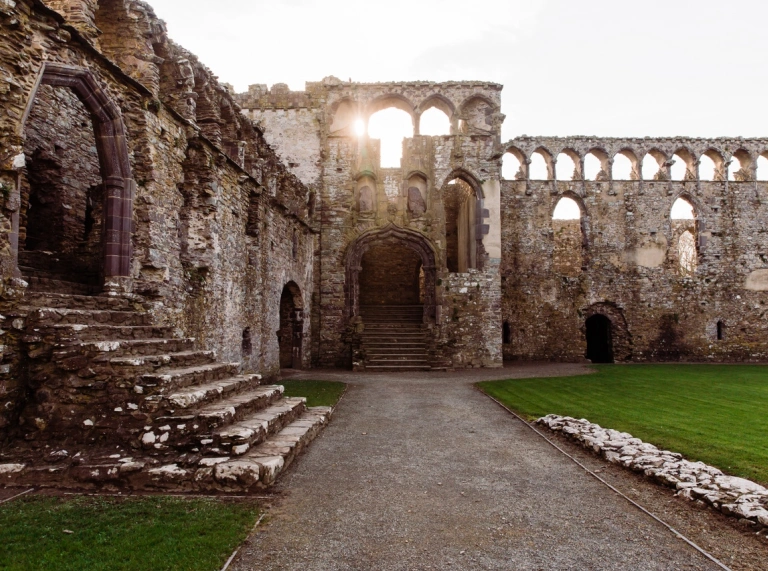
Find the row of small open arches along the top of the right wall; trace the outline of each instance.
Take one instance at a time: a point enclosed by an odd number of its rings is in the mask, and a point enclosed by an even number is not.
[[[696,156],[685,148],[671,156],[658,149],[648,151],[642,160],[630,149],[612,157],[602,149],[581,156],[564,149],[555,157],[544,147],[530,156],[516,147],[504,154],[502,178],[505,180],[675,180],[675,181],[768,181],[768,150],[754,158],[740,149],[727,159],[715,149]]]

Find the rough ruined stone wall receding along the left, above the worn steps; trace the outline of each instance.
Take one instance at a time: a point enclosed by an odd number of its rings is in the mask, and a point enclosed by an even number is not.
[[[24,153],[48,149],[51,141],[42,139],[61,135],[36,129],[35,113],[46,105],[60,107],[63,129],[72,115],[68,110],[77,105],[66,86],[55,91],[63,91],[70,102],[45,103],[51,87],[40,85],[47,77],[43,70],[58,64],[57,73],[68,78],[66,85],[85,89],[91,104],[101,106],[94,113],[114,109],[124,126],[124,137],[117,132],[105,136],[103,129],[111,127],[104,127],[103,117],[98,124],[94,118],[97,146],[119,138],[131,174],[132,254],[129,275],[120,287],[136,295],[156,323],[196,337],[200,348],[215,350],[222,360],[242,362],[243,370],[274,374],[279,367],[275,331],[282,288],[294,281],[307,305],[311,300],[315,234],[309,225],[310,190],[241,115],[229,88],[165,37],[164,25],[148,5],[127,0],[53,4],[58,11],[36,0],[0,3],[2,315],[9,322],[18,316],[19,328],[13,331],[23,329],[20,308],[31,287],[19,279],[18,268],[18,240],[26,229],[21,216]],[[35,108],[31,103],[38,94],[43,103]],[[39,144],[34,134],[25,140],[29,133],[40,133]],[[73,135],[68,145],[85,144]],[[71,180],[90,186],[91,178],[95,180],[92,148],[85,154],[87,160],[75,162],[90,174],[81,176],[75,163],[62,165],[65,184]],[[101,147],[99,158],[102,175],[120,160],[105,155]],[[79,220],[81,210],[77,206],[70,215]],[[244,353],[246,329],[251,351]],[[28,349],[16,333],[4,341],[0,427],[12,423],[23,404]],[[305,353],[309,361],[309,351]]]

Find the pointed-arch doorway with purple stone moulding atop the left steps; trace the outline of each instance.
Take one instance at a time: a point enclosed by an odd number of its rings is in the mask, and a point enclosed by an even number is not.
[[[120,108],[90,71],[46,63],[22,134],[28,162],[12,221],[22,275],[33,289],[129,289],[135,183]]]

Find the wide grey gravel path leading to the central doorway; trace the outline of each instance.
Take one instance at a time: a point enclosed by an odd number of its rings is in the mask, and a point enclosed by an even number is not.
[[[718,569],[476,391],[483,378],[352,374],[230,569]]]

